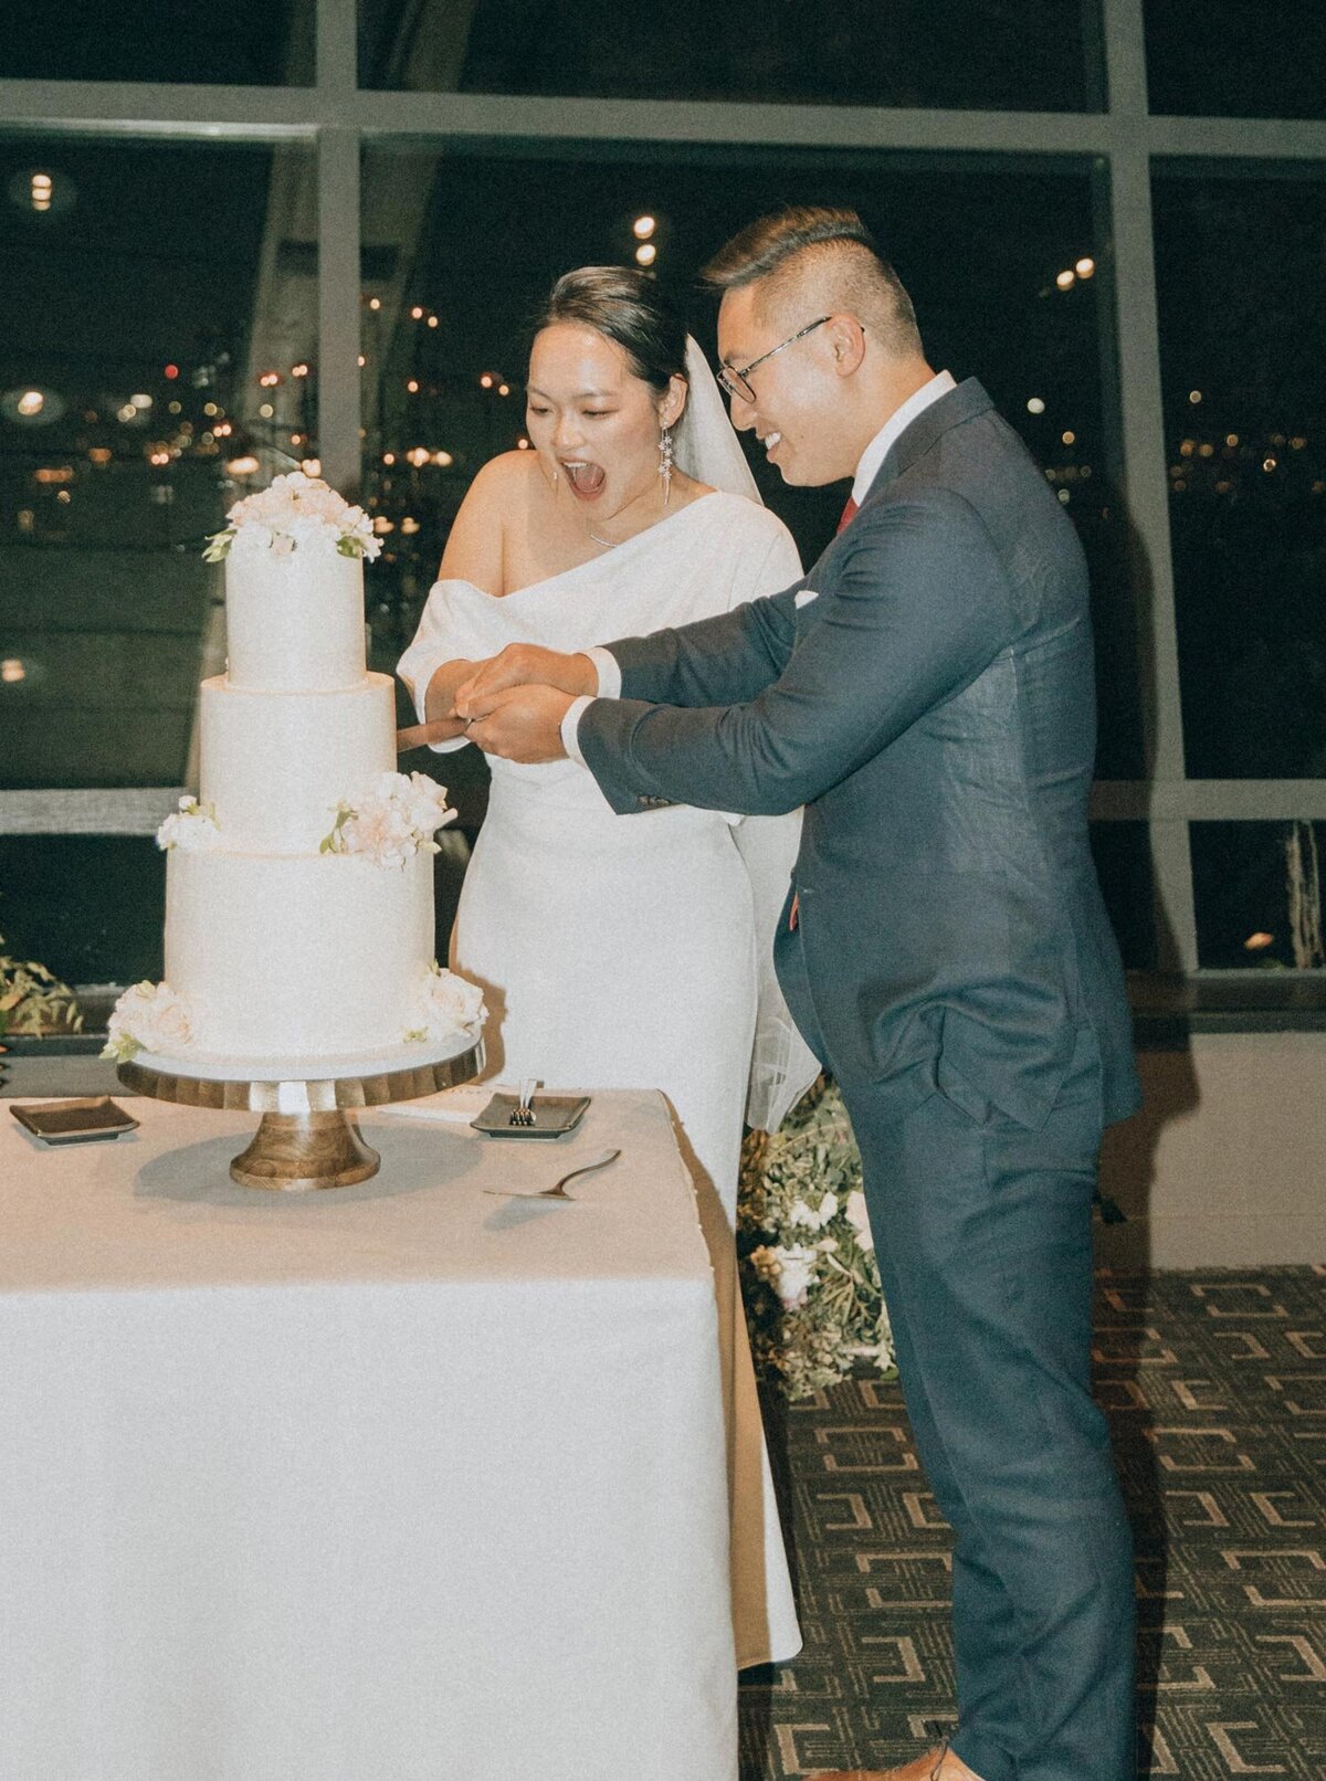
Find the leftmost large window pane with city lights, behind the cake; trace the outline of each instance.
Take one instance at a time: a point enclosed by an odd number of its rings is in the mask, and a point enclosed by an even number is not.
[[[303,150],[0,144],[0,787],[191,778],[225,654],[203,540],[315,454],[310,176]]]

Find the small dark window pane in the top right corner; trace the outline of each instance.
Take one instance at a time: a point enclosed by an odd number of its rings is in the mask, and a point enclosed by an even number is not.
[[[1321,0],[1144,0],[1150,107],[1178,118],[1326,118]]]

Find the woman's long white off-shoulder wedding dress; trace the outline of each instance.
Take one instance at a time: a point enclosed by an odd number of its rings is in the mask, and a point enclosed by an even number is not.
[[[421,720],[433,671],[506,643],[574,652],[725,613],[800,575],[772,513],[702,495],[601,557],[504,597],[440,581],[399,675]],[[465,746],[463,737],[440,744]],[[772,930],[800,816],[684,805],[617,816],[572,760],[490,757],[453,967],[483,985],[488,1074],[547,1088],[661,1088],[697,1175],[720,1291],[736,1291],[736,1179],[747,1092],[777,1127],[816,1065],[772,980]],[[761,1038],[752,1074],[756,1012]],[[716,1202],[722,1204],[724,1229]],[[722,1275],[729,1279],[724,1282]],[[741,1665],[800,1647],[745,1325],[727,1355],[734,1631]],[[684,1459],[679,1457],[679,1482]]]

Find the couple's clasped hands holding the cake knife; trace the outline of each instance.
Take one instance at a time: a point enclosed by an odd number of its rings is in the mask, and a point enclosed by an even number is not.
[[[563,655],[536,643],[508,643],[478,663],[456,687],[454,712],[465,736],[504,760],[563,760],[561,720],[583,693],[599,691],[588,655]]]

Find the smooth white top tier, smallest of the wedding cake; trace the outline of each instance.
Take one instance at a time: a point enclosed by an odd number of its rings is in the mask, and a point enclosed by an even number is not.
[[[226,679],[246,693],[364,684],[364,563],[330,545],[226,557]]]

